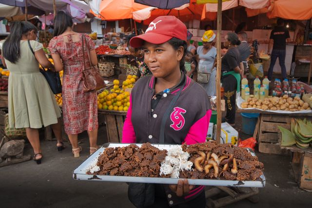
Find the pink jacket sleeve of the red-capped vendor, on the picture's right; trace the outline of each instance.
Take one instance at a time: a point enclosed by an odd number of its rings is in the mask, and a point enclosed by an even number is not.
[[[186,143],[192,145],[206,141],[211,113],[212,111],[208,110],[202,118],[193,124],[190,131],[187,133],[183,144]]]

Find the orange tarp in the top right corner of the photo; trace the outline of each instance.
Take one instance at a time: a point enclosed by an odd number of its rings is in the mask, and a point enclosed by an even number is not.
[[[275,0],[268,12],[269,18],[311,19],[312,0]]]

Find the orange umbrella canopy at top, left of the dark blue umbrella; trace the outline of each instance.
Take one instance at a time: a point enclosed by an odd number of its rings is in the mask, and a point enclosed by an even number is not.
[[[134,0],[102,0],[98,15],[93,13],[102,20],[132,19],[133,12],[147,7]]]

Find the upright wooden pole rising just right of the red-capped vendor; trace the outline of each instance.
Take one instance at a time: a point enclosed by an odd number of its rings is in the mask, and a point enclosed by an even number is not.
[[[222,24],[222,0],[218,0],[218,13],[217,13],[217,32],[216,32],[216,141],[220,143],[221,135],[221,24]]]

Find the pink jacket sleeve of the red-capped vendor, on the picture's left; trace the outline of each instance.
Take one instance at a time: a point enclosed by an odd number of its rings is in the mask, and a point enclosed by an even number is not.
[[[126,115],[122,130],[122,143],[135,143],[136,133],[131,121],[132,116],[132,96],[130,95],[130,106]]]

